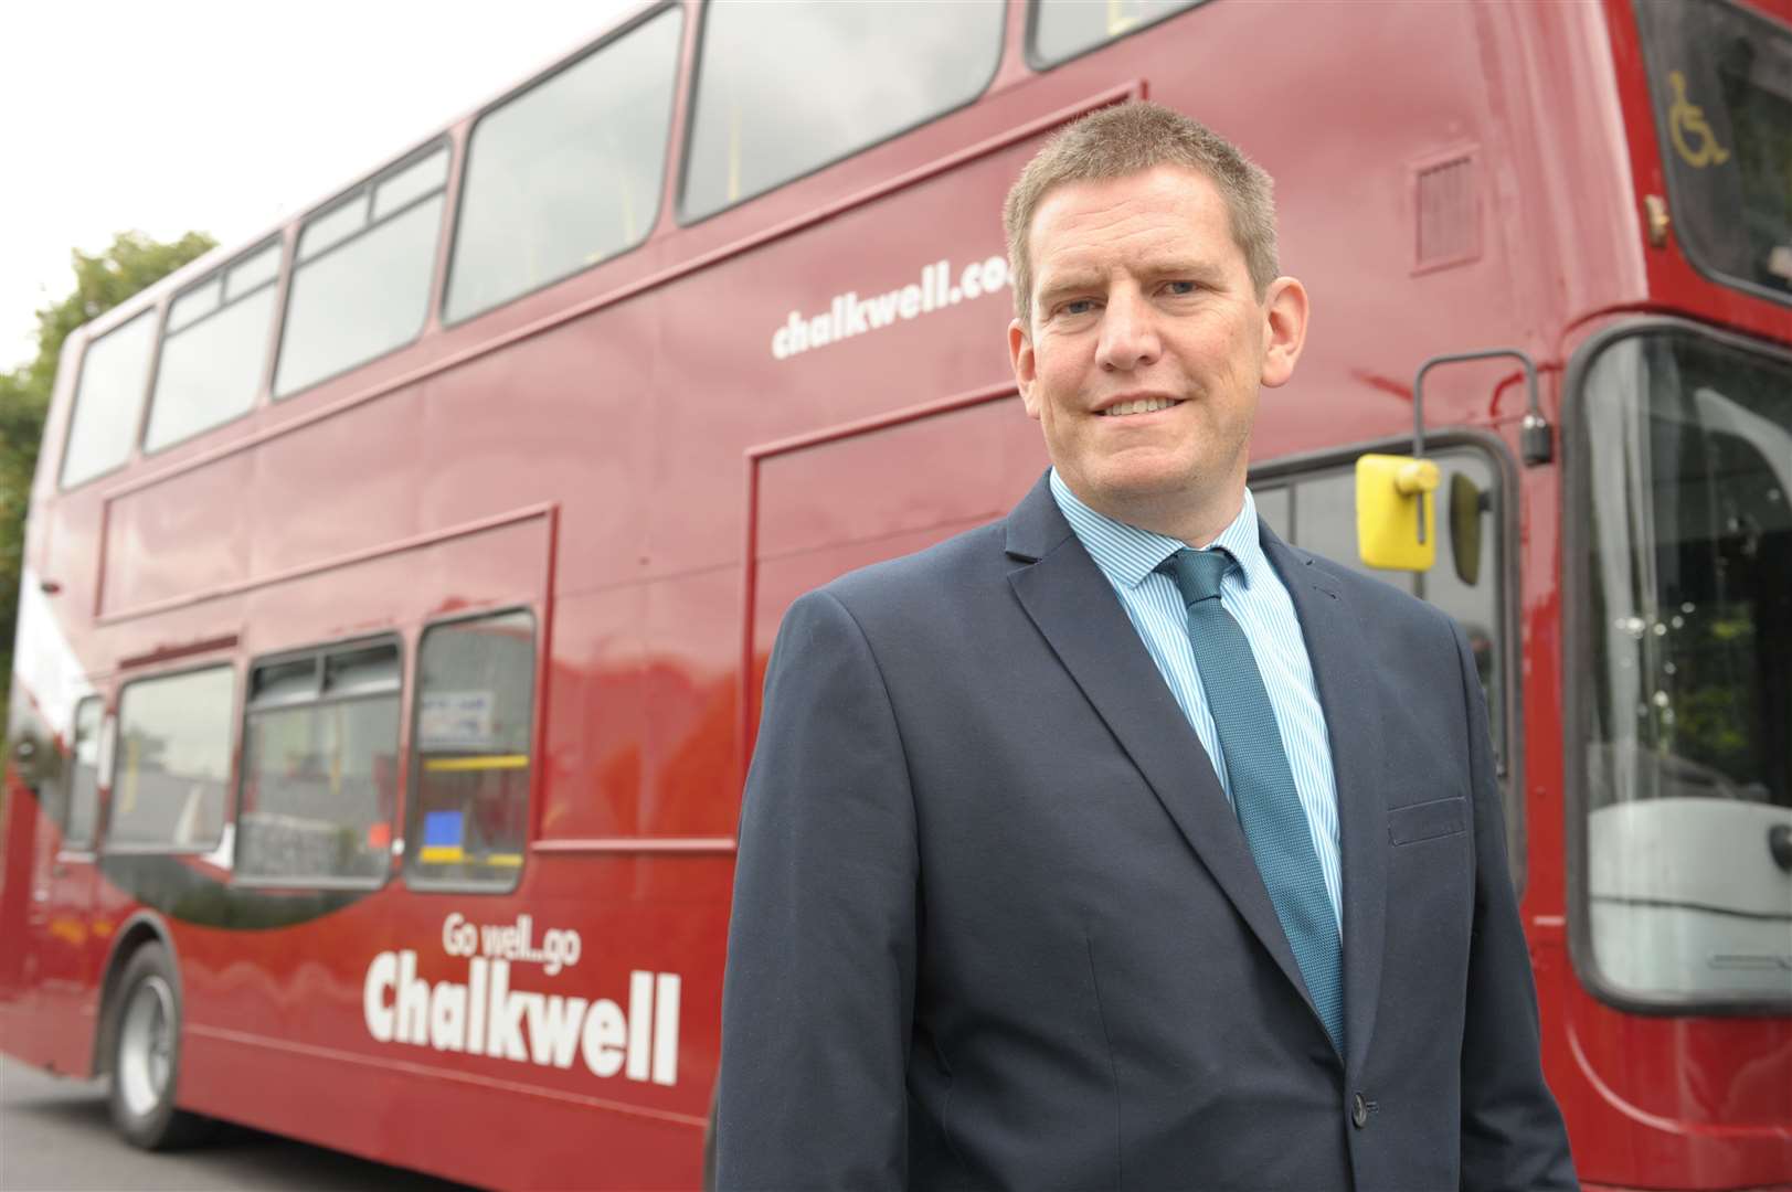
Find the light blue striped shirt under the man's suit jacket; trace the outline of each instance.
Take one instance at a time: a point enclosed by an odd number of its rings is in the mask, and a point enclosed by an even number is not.
[[[1095,513],[1077,500],[1070,486],[1057,477],[1055,468],[1052,470],[1052,497],[1064,520],[1070,522],[1070,529],[1077,532],[1082,548],[1090,552],[1095,566],[1102,568],[1107,583],[1113,584],[1120,606],[1145,642],[1150,660],[1158,663],[1158,670],[1170,685],[1170,694],[1176,695],[1183,715],[1201,737],[1201,747],[1213,758],[1220,787],[1231,799],[1219,730],[1213,726],[1213,710],[1201,687],[1195,649],[1188,642],[1188,609],[1183,606],[1183,593],[1176,581],[1156,570],[1159,563],[1188,543]],[[1211,545],[1226,547],[1236,559],[1236,565],[1220,579],[1220,606],[1244,629],[1245,640],[1251,642],[1251,652],[1256,656],[1256,669],[1263,676],[1263,687],[1269,690],[1276,728],[1281,731],[1281,747],[1288,755],[1288,769],[1294,771],[1294,790],[1301,798],[1301,810],[1306,812],[1314,851],[1319,853],[1319,869],[1326,878],[1326,896],[1331,900],[1331,914],[1337,916],[1339,937],[1342,937],[1344,894],[1331,739],[1326,735],[1326,715],[1319,706],[1319,688],[1314,683],[1314,663],[1306,656],[1306,638],[1301,636],[1301,620],[1294,613],[1294,600],[1288,597],[1281,575],[1276,574],[1258,541],[1256,502],[1249,489],[1244,495],[1244,509]]]

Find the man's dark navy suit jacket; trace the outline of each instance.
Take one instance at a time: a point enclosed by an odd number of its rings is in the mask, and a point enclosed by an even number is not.
[[[742,807],[717,1187],[1575,1187],[1468,644],[1262,540],[1331,739],[1348,1054],[1041,480],[785,617]]]

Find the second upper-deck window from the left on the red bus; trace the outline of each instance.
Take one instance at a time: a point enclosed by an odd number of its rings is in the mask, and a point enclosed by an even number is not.
[[[267,371],[280,246],[267,244],[174,299],[161,337],[143,450],[249,412]]]

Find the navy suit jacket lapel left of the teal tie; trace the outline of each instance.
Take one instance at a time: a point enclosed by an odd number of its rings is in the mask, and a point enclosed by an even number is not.
[[[1176,706],[1107,577],[1077,541],[1041,480],[1007,522],[1009,554],[1032,561],[1009,575],[1021,608],[1097,715],[1133,758],[1177,830],[1238,916],[1306,995],[1306,982],[1269,902],[1244,830],[1201,739]]]

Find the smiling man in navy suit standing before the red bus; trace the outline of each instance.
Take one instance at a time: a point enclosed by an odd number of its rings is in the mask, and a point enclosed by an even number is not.
[[[1007,231],[1052,471],[785,618],[719,1187],[1575,1187],[1468,645],[1245,489],[1267,174],[1109,108]]]

